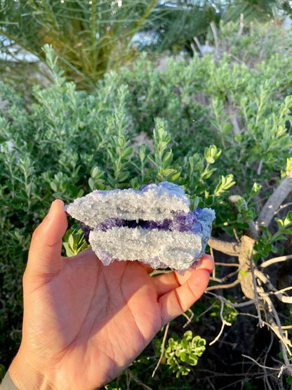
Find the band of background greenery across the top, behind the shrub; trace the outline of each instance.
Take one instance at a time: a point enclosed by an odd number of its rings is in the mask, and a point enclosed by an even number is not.
[[[175,3],[176,6],[171,4]],[[211,22],[271,20],[291,12],[286,0],[1,0],[0,50],[40,60],[51,44],[67,79],[95,89],[109,70],[133,60],[137,49],[192,51],[193,38],[213,41]],[[138,32],[140,40],[135,39]],[[6,39],[3,39],[6,37]],[[144,43],[142,43],[144,41]]]

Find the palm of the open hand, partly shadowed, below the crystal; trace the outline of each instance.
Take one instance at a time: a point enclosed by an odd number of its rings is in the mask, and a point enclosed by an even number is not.
[[[115,376],[117,367],[126,367],[162,326],[156,287],[140,263],[115,262],[104,267],[91,249],[62,262],[60,273],[31,295],[26,323],[34,321],[34,334],[29,339],[36,349],[41,347],[39,363],[46,360],[54,366],[61,361],[59,370],[66,372],[68,365],[72,369],[74,356],[78,377],[82,377],[82,368],[87,375],[98,367],[98,376],[104,372],[107,381]],[[113,358],[117,367],[109,372]],[[72,381],[77,385],[77,378]],[[91,381],[88,388],[96,384],[94,375]]]

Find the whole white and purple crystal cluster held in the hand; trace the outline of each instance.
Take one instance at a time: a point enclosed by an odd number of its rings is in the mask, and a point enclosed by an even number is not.
[[[105,266],[138,260],[182,274],[199,264],[215,219],[212,209],[190,211],[183,187],[168,182],[95,190],[66,211],[81,221],[86,241]]]

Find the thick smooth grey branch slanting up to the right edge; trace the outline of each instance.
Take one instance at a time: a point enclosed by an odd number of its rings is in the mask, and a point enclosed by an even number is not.
[[[286,199],[292,190],[292,170],[288,172],[287,177],[281,181],[279,187],[276,188],[274,193],[269,197],[265,206],[263,207],[258,221],[255,223],[257,230],[260,226],[269,226],[270,222],[274,218],[274,212],[276,212],[281,206],[282,202]]]

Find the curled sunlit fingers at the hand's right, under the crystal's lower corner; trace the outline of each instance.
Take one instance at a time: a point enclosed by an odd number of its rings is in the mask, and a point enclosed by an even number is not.
[[[185,276],[168,274],[168,282],[164,278],[163,284],[159,287],[160,291],[165,291],[159,297],[161,318],[164,324],[187,311],[204,294],[212,271],[213,259],[211,256],[204,255],[200,266],[186,273]]]

